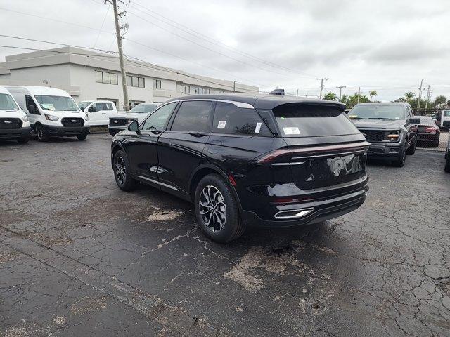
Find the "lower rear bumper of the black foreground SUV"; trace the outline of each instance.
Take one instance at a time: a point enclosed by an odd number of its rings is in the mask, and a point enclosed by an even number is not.
[[[299,218],[294,218],[292,220],[264,220],[260,218],[257,213],[245,210],[242,211],[242,219],[246,225],[259,227],[295,227],[320,223],[321,221],[342,216],[343,214],[359,208],[366,200],[367,191],[368,185],[365,185],[352,193],[327,199],[325,201],[310,201],[302,204],[279,206],[278,209],[280,211],[276,214],[279,214],[280,212],[296,213],[297,211],[300,214],[302,211],[309,211],[304,216],[299,216]]]

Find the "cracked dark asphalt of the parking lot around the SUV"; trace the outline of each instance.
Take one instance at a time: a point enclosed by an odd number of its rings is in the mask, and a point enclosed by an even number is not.
[[[216,244],[119,190],[110,141],[0,143],[0,336],[450,336],[442,153],[371,163],[346,216]]]

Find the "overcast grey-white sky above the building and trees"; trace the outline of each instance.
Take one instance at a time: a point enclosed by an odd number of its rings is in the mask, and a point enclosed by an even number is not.
[[[448,0],[123,0],[127,55],[157,65],[319,95],[378,91],[450,98]],[[121,4],[124,8],[124,4]],[[102,0],[0,0],[0,34],[117,51],[113,8]],[[0,37],[0,62],[55,45]]]

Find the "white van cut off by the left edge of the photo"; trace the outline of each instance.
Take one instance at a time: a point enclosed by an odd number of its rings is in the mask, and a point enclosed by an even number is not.
[[[30,139],[30,122],[13,96],[0,86],[0,140],[15,139],[27,143]]]

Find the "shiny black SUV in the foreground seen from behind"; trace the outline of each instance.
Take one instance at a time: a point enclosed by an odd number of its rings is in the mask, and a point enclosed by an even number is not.
[[[281,95],[193,95],[167,101],[113,138],[122,190],[141,183],[194,203],[207,237],[246,225],[335,218],[366,199],[369,143],[345,105]]]

